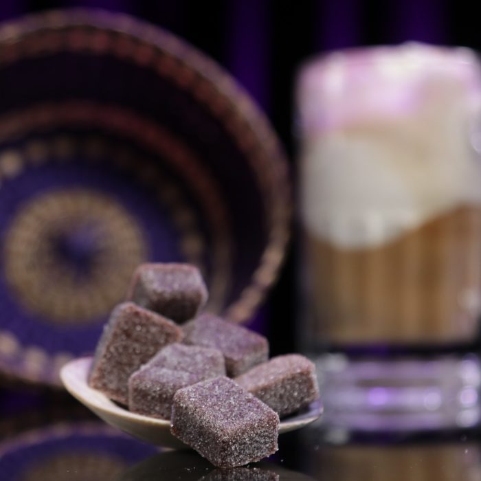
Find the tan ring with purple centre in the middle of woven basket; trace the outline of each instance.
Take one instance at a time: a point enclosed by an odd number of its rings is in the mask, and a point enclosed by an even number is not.
[[[147,258],[133,216],[89,190],[35,197],[16,214],[4,243],[5,278],[15,295],[59,324],[109,315]]]

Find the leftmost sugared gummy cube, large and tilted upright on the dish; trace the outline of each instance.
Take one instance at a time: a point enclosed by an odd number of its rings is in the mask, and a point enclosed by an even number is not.
[[[104,326],[89,373],[91,388],[123,404],[128,403],[128,378],[159,349],[182,340],[177,324],[133,302],[112,311]]]

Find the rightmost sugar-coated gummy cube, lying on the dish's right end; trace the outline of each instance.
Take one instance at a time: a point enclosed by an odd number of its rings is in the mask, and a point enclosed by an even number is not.
[[[273,357],[234,381],[279,416],[291,414],[319,397],[315,366],[298,354]]]

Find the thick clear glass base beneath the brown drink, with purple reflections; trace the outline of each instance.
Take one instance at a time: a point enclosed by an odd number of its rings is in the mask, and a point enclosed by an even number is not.
[[[353,359],[314,357],[324,427],[366,432],[465,429],[480,423],[477,355]]]

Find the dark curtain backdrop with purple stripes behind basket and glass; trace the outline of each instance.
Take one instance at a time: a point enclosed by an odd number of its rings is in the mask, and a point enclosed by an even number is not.
[[[295,175],[293,83],[314,54],[416,40],[479,49],[476,1],[0,0],[0,20],[60,7],[128,12],[186,38],[229,70],[267,112]],[[295,240],[267,315],[273,354],[293,350]]]

